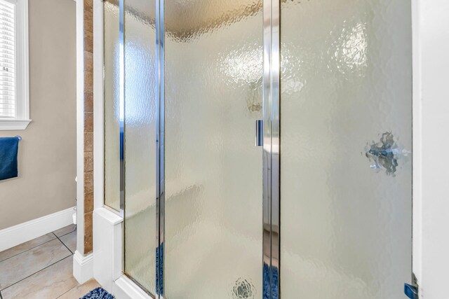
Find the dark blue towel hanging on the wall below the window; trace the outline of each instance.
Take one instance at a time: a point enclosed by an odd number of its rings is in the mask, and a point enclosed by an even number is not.
[[[18,176],[17,153],[18,137],[0,137],[0,180]]]

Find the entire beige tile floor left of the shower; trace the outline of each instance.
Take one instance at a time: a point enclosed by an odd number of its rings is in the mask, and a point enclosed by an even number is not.
[[[69,225],[0,252],[1,299],[78,299],[100,286],[72,275],[76,230]]]

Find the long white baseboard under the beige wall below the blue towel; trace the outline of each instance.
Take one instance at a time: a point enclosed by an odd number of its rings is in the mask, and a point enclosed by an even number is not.
[[[36,237],[72,224],[74,208],[65,209],[31,221],[0,230],[0,251],[10,249]]]

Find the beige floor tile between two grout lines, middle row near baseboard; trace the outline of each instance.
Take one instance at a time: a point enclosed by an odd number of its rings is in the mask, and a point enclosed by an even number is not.
[[[0,262],[0,290],[70,255],[72,253],[59,239],[53,239],[50,242],[4,260]]]

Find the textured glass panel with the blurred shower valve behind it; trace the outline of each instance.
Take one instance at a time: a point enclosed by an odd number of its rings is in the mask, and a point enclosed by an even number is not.
[[[281,1],[282,298],[411,279],[410,1]]]

